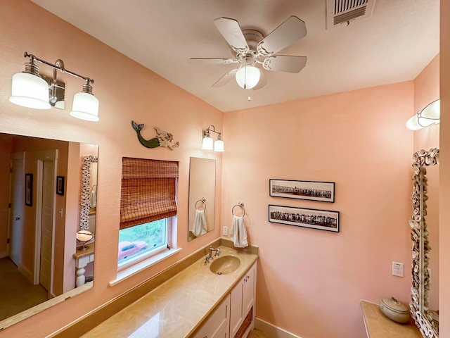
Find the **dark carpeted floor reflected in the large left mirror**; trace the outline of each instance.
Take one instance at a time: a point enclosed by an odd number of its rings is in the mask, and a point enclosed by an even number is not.
[[[32,285],[9,258],[0,258],[0,320],[20,313],[43,301],[47,292],[41,285]]]

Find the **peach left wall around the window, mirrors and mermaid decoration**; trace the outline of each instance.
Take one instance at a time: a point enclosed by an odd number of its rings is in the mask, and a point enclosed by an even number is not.
[[[188,172],[191,156],[217,160],[217,224],[221,204],[221,154],[201,151],[202,130],[214,125],[222,130],[222,113],[143,68],[98,40],[80,32],[26,0],[4,0],[0,11],[0,132],[77,141],[99,146],[94,288],[0,332],[0,337],[44,337],[101,304],[135,287],[160,270],[188,256],[219,236],[216,230],[187,242]],[[95,80],[94,94],[100,101],[100,122],[70,117],[72,97],[82,81],[69,75],[65,80],[65,111],[36,111],[10,104],[11,77],[23,71],[24,51],[46,61],[60,58],[65,67]],[[41,65],[41,72],[52,70]],[[131,120],[144,123],[143,137],[155,137],[158,126],[174,134],[180,146],[147,149],[139,144]],[[224,133],[224,140],[228,139]],[[166,261],[139,275],[109,287],[116,277],[120,218],[122,156],[179,161],[178,245],[183,248]]]

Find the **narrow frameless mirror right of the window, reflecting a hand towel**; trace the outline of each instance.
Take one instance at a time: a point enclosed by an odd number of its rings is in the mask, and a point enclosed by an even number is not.
[[[191,157],[188,241],[214,230],[216,160]]]

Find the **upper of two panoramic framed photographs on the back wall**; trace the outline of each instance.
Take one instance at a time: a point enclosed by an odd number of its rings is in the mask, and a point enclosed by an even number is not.
[[[288,199],[334,202],[335,182],[269,180],[269,194]]]

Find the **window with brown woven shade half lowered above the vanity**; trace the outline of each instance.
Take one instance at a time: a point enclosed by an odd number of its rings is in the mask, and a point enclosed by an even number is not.
[[[122,158],[119,267],[170,249],[179,163]]]

